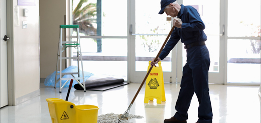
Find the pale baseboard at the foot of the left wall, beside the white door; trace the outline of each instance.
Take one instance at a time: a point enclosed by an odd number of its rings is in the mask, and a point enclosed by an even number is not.
[[[31,93],[28,93],[24,96],[18,97],[18,98],[16,98],[15,105],[21,104],[21,103],[28,101],[28,100],[36,97],[36,96],[39,96],[39,95],[40,95],[40,89],[38,89],[34,92],[31,92]]]

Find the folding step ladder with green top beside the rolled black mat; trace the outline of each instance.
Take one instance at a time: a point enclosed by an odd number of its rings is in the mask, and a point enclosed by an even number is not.
[[[67,28],[76,28],[77,29],[77,41],[62,41],[62,34],[63,34],[63,29]],[[62,53],[66,48],[75,48],[77,50],[77,57],[62,57]],[[64,49],[63,49],[64,48]],[[81,70],[82,70],[82,77],[80,77],[80,65],[79,65],[79,57],[81,61]],[[62,60],[66,59],[77,59],[78,63],[78,72],[72,72],[72,73],[62,73]],[[60,72],[58,73],[58,66],[60,66]],[[65,86],[65,84],[71,80],[74,79],[76,80],[79,85],[82,86],[84,92],[86,92],[85,89],[85,81],[84,81],[84,74],[83,74],[83,65],[82,65],[82,53],[81,53],[81,46],[80,46],[80,35],[79,35],[79,25],[60,25],[60,35],[59,35],[59,45],[58,45],[58,54],[57,54],[57,64],[56,64],[56,76],[55,76],[55,84],[54,88],[56,88],[56,83],[60,81],[60,93],[62,93],[62,88]],[[78,74],[78,77],[75,77],[74,75]],[[60,76],[60,78],[57,79],[57,75]],[[71,78],[63,78],[64,75],[72,75]],[[80,79],[83,80],[83,85],[79,82]],[[62,80],[67,80],[63,85],[62,85]]]

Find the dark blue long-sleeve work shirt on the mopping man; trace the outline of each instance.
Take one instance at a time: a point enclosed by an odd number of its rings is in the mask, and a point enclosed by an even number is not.
[[[205,25],[195,8],[181,5],[178,18],[182,21],[181,29],[175,27],[173,30],[169,41],[159,56],[162,60],[169,55],[180,39],[184,45],[207,40],[207,36],[203,31]]]

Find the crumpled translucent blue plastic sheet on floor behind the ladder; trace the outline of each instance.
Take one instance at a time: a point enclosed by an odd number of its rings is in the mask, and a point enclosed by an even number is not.
[[[77,66],[69,66],[66,69],[62,70],[62,73],[68,73],[68,72],[78,72],[78,67]],[[44,81],[44,85],[45,86],[54,86],[55,83],[55,73],[56,71],[54,71],[52,74],[50,74],[49,76],[46,77],[45,81]],[[58,73],[60,73],[60,71],[58,71]],[[84,74],[84,81],[86,81],[89,77],[91,77],[93,74],[83,71]],[[75,77],[78,77],[78,74],[74,75]],[[72,75],[64,75],[63,78],[72,78]],[[80,77],[82,77],[82,71],[80,70]],[[60,75],[57,75],[57,79],[60,78]],[[66,82],[67,80],[62,80],[62,85]],[[80,83],[82,83],[82,79],[80,79]],[[72,87],[77,84],[78,82],[76,80],[73,80],[72,83]],[[64,87],[69,87],[70,85],[70,80],[64,85]],[[60,81],[58,81],[56,83],[56,87],[60,87]]]

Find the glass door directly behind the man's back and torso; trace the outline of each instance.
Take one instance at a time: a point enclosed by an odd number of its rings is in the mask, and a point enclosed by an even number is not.
[[[206,28],[204,30],[207,35],[206,46],[210,54],[209,67],[209,83],[223,84],[224,83],[224,12],[220,7],[224,5],[220,1],[183,1],[184,6],[192,6],[197,9]],[[184,46],[184,44],[183,44]],[[186,64],[186,50],[182,50],[182,65]],[[180,71],[181,72],[181,71]]]

